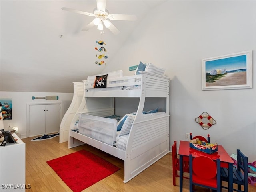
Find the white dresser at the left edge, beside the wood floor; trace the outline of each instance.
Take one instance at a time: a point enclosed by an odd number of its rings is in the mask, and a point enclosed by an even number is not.
[[[18,143],[0,146],[0,192],[25,192],[25,143],[15,134]]]

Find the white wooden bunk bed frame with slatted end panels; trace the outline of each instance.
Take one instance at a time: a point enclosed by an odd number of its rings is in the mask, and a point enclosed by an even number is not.
[[[84,80],[84,95],[86,97],[77,112],[77,114],[80,114],[79,133],[70,130],[68,148],[87,143],[124,160],[124,183],[126,183],[170,151],[170,80],[165,76],[144,71],[135,76],[122,76],[121,72],[119,77],[114,78],[111,77],[111,73],[108,73],[107,88],[93,88],[94,79],[95,76],[91,76]],[[135,87],[135,89],[132,87]],[[139,98],[140,100],[130,133],[125,135],[127,138],[125,150],[119,149],[114,144],[112,145],[116,141],[116,136],[118,137],[116,133],[117,121],[104,118],[114,114],[114,97]],[[143,109],[147,97],[163,98],[165,100],[165,112],[160,112],[155,116],[145,116]],[[86,129],[97,127],[91,125],[91,123],[108,123],[109,127],[112,127],[110,128],[110,137],[112,137],[113,142],[99,141],[92,138],[94,136],[89,136],[90,133],[86,133],[88,131]]]

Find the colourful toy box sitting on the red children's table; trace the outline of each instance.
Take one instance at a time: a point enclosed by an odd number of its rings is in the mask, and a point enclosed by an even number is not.
[[[212,154],[218,151],[217,143],[210,143],[210,137],[208,135],[208,142],[201,141],[199,138],[192,139],[192,133],[190,133],[189,147],[202,151],[204,153]]]

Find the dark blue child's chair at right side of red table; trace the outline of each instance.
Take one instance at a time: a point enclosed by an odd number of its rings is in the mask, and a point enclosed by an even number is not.
[[[233,168],[233,183],[237,184],[237,189],[233,189],[238,192],[248,192],[248,157],[246,157],[240,149],[236,150],[237,154],[237,167]],[[221,180],[228,182],[228,169],[221,168]],[[244,186],[244,190],[241,190],[241,185]],[[228,187],[222,186],[222,188],[228,189]]]

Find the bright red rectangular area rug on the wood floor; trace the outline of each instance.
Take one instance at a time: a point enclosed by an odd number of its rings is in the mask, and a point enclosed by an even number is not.
[[[47,161],[74,192],[80,192],[120,168],[85,150]]]

